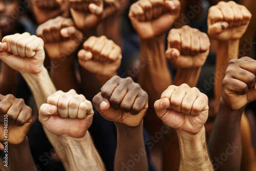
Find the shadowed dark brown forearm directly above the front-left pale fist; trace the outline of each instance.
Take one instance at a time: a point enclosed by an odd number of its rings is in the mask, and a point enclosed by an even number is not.
[[[68,56],[65,60],[52,60],[51,63],[57,62],[52,66],[51,78],[57,90],[68,92],[70,89],[79,91],[78,82],[75,74],[74,56]]]

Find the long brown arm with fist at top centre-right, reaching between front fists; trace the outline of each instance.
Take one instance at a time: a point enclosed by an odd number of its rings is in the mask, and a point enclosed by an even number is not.
[[[148,10],[144,10],[146,8]],[[179,1],[138,1],[129,11],[131,23],[140,38],[141,65],[138,79],[150,96],[150,106],[172,83],[164,56],[164,35],[179,12]]]

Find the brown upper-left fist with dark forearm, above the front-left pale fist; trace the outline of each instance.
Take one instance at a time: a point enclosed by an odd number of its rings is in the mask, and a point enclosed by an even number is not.
[[[57,16],[38,26],[36,35],[45,42],[52,64],[51,78],[58,90],[79,90],[75,76],[75,52],[82,42],[82,33],[70,18]],[[62,75],[65,74],[65,77]]]

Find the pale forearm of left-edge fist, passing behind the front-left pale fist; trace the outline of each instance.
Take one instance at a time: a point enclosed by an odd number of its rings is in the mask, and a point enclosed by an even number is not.
[[[40,106],[43,103],[47,103],[47,98],[56,92],[56,88],[54,87],[54,84],[45,68],[44,70],[42,70],[41,73],[37,75],[22,73],[22,76],[26,80],[30,90],[32,91],[37,105],[37,110],[39,111]],[[68,168],[68,163],[66,162],[66,154],[63,153],[62,146],[57,143],[57,137],[54,134],[50,133],[45,126],[42,126],[42,128],[44,129],[48,140],[53,145],[56,153],[59,154],[63,165]]]

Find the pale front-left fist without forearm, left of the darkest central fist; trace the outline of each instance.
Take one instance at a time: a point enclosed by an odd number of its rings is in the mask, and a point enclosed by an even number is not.
[[[82,138],[92,124],[93,114],[92,103],[72,89],[49,96],[39,109],[39,121],[56,136]]]

